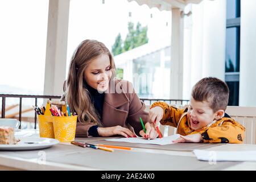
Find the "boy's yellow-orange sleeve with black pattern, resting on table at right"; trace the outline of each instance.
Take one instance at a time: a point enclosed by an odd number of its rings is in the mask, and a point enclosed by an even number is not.
[[[200,133],[204,143],[243,143],[245,128],[236,121],[228,120],[221,126],[205,127]]]

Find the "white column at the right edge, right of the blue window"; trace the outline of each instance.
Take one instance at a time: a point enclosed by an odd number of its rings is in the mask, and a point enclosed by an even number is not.
[[[255,0],[241,0],[240,106],[256,106]]]

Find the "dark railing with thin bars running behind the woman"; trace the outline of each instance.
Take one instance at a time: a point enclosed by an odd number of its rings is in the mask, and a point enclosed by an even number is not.
[[[0,94],[0,98],[2,98],[2,118],[5,118],[5,113],[6,113],[6,98],[19,98],[19,121],[20,123],[22,122],[22,99],[23,98],[34,98],[35,99],[35,105],[38,105],[38,99],[39,98],[47,98],[48,100],[52,100],[52,99],[60,99],[61,96],[35,96],[35,95],[15,95],[15,94]],[[141,101],[143,102],[149,102],[149,104],[151,105],[152,102],[156,102],[156,101],[164,101],[167,102],[168,104],[188,104],[189,100],[167,100],[167,99],[149,99],[149,98],[141,98]],[[32,106],[31,106],[32,107]],[[35,125],[34,125],[34,129],[36,129],[36,113],[35,113]],[[19,126],[19,128],[21,129],[21,124]]]

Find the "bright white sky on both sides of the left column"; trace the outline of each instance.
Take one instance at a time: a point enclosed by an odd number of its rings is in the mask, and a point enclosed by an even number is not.
[[[129,16],[131,12],[131,16]],[[152,14],[152,18],[151,18]],[[149,42],[171,35],[170,11],[150,9],[126,0],[71,0],[67,70],[82,40],[95,39],[111,51],[115,37],[127,34],[129,21],[148,26]],[[48,22],[46,0],[0,1],[0,86],[20,88],[23,94],[43,94]],[[159,34],[159,32],[161,32]],[[3,92],[0,88],[0,91]],[[4,90],[13,93],[14,90]],[[19,93],[20,94],[20,93]]]

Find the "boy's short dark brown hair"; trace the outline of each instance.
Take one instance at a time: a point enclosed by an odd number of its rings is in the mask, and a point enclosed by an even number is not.
[[[218,78],[206,77],[193,86],[191,96],[196,101],[208,101],[214,112],[220,109],[225,111],[229,101],[229,88]]]

